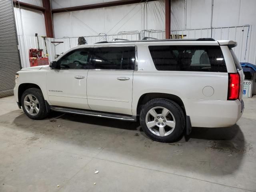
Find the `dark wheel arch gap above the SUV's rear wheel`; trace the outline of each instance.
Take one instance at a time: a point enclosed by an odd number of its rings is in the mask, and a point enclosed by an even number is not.
[[[168,94],[168,93],[145,93],[142,96],[140,96],[139,100],[138,100],[138,104],[137,104],[137,114],[140,114],[140,111],[142,109],[142,106],[144,104],[146,104],[148,101],[152,100],[152,99],[156,99],[156,98],[164,98],[164,99],[169,99],[172,100],[174,102],[176,102],[181,108],[182,111],[184,112],[184,115],[186,116],[186,109],[184,106],[184,103],[182,102],[181,98],[173,95],[173,94]]]

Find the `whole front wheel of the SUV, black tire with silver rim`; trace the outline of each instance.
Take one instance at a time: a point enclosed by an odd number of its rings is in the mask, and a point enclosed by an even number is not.
[[[29,88],[21,96],[21,105],[24,113],[34,120],[46,118],[48,112],[42,91],[38,88]]]

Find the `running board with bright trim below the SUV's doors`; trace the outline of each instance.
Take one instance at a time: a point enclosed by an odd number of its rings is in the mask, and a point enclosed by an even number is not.
[[[95,116],[95,117],[111,118],[111,119],[118,119],[118,120],[124,120],[124,121],[136,121],[136,116],[116,115],[116,114],[108,114],[108,113],[104,113],[104,112],[94,112],[94,111],[86,111],[86,110],[54,107],[54,106],[51,106],[50,108],[53,111],[63,112],[63,113],[72,113],[72,114],[88,115],[88,116]]]

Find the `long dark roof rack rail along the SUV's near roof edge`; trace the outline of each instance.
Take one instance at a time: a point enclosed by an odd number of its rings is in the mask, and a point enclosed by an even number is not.
[[[213,38],[198,38],[198,39],[147,39],[147,40],[122,40],[122,43],[133,43],[133,42],[162,42],[162,41],[216,41]],[[118,43],[118,41],[102,41],[100,43]]]

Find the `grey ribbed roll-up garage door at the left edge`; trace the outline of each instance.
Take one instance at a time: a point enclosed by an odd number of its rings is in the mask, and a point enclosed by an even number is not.
[[[12,0],[0,0],[0,97],[13,94],[20,55]]]

